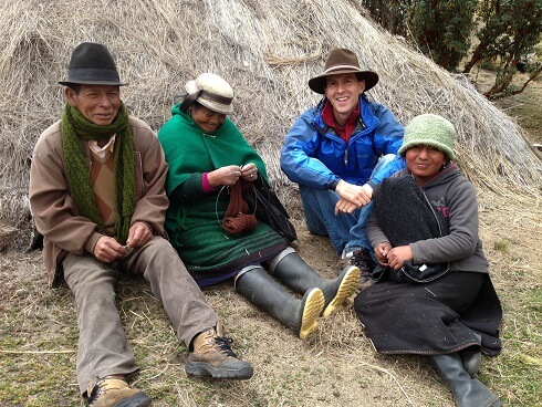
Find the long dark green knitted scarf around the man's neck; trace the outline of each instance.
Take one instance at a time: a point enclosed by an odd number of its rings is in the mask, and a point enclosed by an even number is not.
[[[115,236],[121,244],[125,244],[135,210],[134,145],[126,107],[121,104],[113,123],[108,126],[100,126],[90,122],[77,108],[66,104],[61,126],[72,199],[80,215],[96,223],[101,233],[105,232],[105,226],[97,209],[91,181],[91,168],[81,139],[106,140],[116,134],[114,145],[115,211],[117,215]]]

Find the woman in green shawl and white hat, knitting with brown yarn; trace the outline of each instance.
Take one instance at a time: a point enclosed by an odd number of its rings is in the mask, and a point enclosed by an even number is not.
[[[338,278],[323,279],[248,211],[242,191],[259,177],[267,180],[267,171],[227,117],[233,113],[231,86],[204,73],[185,88],[183,102],[158,132],[169,165],[166,229],[171,244],[200,286],[233,278],[237,292],[305,338],[320,314],[327,316],[354,293],[359,270],[347,267]]]

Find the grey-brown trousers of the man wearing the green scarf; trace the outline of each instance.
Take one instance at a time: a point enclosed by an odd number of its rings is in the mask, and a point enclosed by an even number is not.
[[[188,273],[177,252],[161,237],[154,237],[121,261],[127,273],[143,274],[163,303],[177,336],[187,346],[200,332],[216,326],[217,314]],[[94,376],[137,372],[115,302],[119,271],[92,255],[69,253],[62,261],[64,279],[75,296],[80,330],[77,383],[84,395]]]

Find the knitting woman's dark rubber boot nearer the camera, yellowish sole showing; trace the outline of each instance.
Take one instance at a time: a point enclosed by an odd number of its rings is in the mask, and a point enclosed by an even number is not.
[[[290,295],[262,268],[241,274],[236,280],[236,291],[302,340],[316,330],[316,320],[324,307],[324,294],[320,289],[308,290],[303,299],[299,300]]]

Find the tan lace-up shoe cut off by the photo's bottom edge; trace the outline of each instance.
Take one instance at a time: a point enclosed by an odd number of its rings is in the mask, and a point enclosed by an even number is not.
[[[153,400],[126,380],[117,377],[94,377],[88,383],[88,406],[92,407],[147,407]]]

